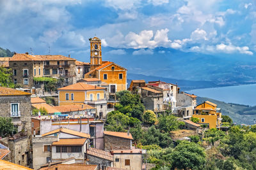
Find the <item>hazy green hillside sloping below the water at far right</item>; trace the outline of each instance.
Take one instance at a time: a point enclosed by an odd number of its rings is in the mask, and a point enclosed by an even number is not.
[[[197,97],[197,103],[203,103],[204,101],[211,101],[221,108],[223,115],[228,115],[233,119],[236,124],[254,124],[256,120],[256,107],[250,107],[243,104],[225,103],[222,101],[216,101],[207,97]]]

